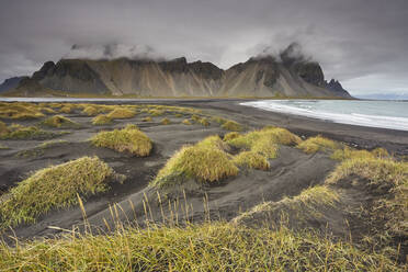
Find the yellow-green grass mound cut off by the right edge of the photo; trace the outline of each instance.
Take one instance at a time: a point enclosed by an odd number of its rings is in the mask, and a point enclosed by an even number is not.
[[[355,180],[355,177],[360,177]],[[356,157],[343,160],[326,180],[329,184],[351,182],[364,186],[375,201],[372,218],[386,218],[386,226],[396,234],[408,235],[408,162],[393,159]]]

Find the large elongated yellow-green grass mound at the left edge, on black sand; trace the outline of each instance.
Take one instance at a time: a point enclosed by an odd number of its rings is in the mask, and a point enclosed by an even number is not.
[[[78,203],[77,194],[88,196],[106,191],[113,175],[113,170],[97,157],[38,170],[0,202],[0,226],[35,223],[52,208],[72,206]]]

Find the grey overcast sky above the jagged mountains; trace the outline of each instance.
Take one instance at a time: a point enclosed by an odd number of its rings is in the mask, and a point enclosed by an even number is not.
[[[297,42],[354,95],[408,93],[407,0],[0,3],[0,81],[63,57],[185,56],[228,68]]]

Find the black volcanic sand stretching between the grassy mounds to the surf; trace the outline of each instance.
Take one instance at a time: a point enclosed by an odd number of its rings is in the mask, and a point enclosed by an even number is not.
[[[237,121],[247,129],[259,128],[265,125],[276,125],[288,128],[299,136],[314,136],[321,134],[326,137],[348,143],[351,146],[372,149],[385,147],[388,151],[398,156],[408,155],[408,132],[359,127],[352,125],[335,124],[302,116],[290,116],[239,105],[237,100],[160,100],[154,101],[128,101],[124,104],[146,103],[180,105],[202,109],[211,115],[218,115]],[[90,102],[92,103],[92,101]],[[112,102],[114,103],[114,102]],[[336,161],[327,155],[305,155],[293,147],[281,147],[279,158],[271,160],[269,171],[240,171],[239,175],[211,186],[200,186],[195,182],[188,182],[182,189],[185,190],[184,201],[181,188],[160,191],[162,197],[161,207],[157,200],[157,192],[148,188],[157,171],[166,163],[167,159],[185,144],[196,143],[208,135],[223,136],[226,131],[219,125],[212,124],[209,127],[201,125],[185,126],[180,124],[184,118],[171,117],[177,124],[158,125],[163,116],[154,117],[154,122],[141,123],[141,115],[131,120],[116,121],[114,125],[102,127],[92,126],[92,117],[83,117],[78,114],[68,114],[71,120],[83,124],[79,129],[70,129],[72,133],[57,137],[56,139],[68,140],[44,150],[37,157],[19,158],[16,152],[31,149],[44,140],[2,140],[11,149],[0,150],[0,186],[8,188],[16,181],[23,180],[30,171],[38,170],[49,165],[58,165],[82,156],[99,156],[107,162],[116,172],[125,174],[127,180],[124,184],[113,184],[112,190],[103,195],[92,196],[86,202],[88,220],[92,226],[104,228],[106,219],[110,226],[114,225],[109,205],[118,203],[118,219],[138,218],[139,224],[145,222],[143,201],[149,202],[151,217],[155,220],[162,219],[162,212],[169,217],[168,202],[179,204],[173,207],[179,222],[185,216],[200,222],[205,217],[204,197],[207,197],[207,206],[212,218],[231,219],[240,212],[251,208],[263,201],[279,201],[286,195],[296,195],[302,190],[322,183],[326,175],[333,169]],[[155,143],[154,152],[146,158],[135,158],[104,148],[92,147],[86,140],[102,128],[123,127],[124,124],[137,124]],[[145,196],[146,195],[146,196]],[[131,202],[133,206],[131,205]],[[186,203],[186,204],[185,204]],[[172,204],[173,205],[173,204]],[[185,212],[185,206],[189,206]],[[60,233],[49,226],[71,229],[72,225],[81,225],[82,215],[78,207],[66,211],[54,211],[38,219],[31,226],[20,226],[15,234],[21,238],[30,238]]]

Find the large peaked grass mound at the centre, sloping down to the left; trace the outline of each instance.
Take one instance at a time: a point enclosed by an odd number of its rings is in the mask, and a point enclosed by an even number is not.
[[[167,185],[184,178],[215,182],[237,175],[238,168],[223,150],[224,145],[218,136],[211,136],[194,146],[184,146],[159,171],[154,184]]]

